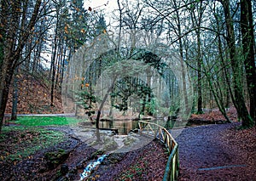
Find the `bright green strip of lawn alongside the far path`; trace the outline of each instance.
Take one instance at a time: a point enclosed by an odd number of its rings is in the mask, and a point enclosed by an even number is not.
[[[74,117],[61,116],[20,116],[15,121],[16,124],[27,127],[63,126],[77,124],[78,122],[81,122],[81,120]]]

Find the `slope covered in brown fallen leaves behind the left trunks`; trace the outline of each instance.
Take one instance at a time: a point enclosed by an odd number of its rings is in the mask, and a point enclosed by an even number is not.
[[[6,114],[12,111],[13,86],[9,90]],[[30,76],[19,76],[18,114],[62,113],[61,93],[55,92],[54,106],[50,106],[50,87],[47,82],[38,81]]]

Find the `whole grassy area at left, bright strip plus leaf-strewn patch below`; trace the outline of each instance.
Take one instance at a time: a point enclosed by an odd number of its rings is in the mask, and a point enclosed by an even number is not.
[[[20,161],[37,150],[61,143],[65,133],[46,130],[45,126],[73,125],[82,120],[61,116],[20,116],[13,122],[20,126],[3,127],[0,134],[0,162]]]

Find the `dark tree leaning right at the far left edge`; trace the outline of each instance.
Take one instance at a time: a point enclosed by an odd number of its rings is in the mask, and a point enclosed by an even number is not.
[[[2,0],[0,28],[0,131],[3,126],[3,116],[6,108],[9,86],[20,65],[20,55],[26,42],[32,37],[34,25],[38,21],[42,0],[37,0],[28,12],[26,7],[30,1]],[[30,9],[31,10],[31,9]],[[26,20],[28,23],[25,24]]]

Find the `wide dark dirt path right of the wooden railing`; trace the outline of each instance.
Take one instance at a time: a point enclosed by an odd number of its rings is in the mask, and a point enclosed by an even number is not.
[[[179,144],[179,180],[256,180],[255,127],[237,131],[237,126],[172,130]]]

